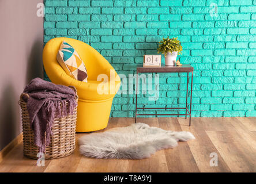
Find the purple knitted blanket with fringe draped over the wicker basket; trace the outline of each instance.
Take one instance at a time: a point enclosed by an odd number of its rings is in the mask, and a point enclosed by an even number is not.
[[[70,87],[55,85],[40,78],[32,79],[25,87],[24,93],[29,95],[28,98],[24,96],[23,99],[27,102],[35,144],[39,147],[40,152],[44,152],[51,141],[50,135],[52,135],[51,128],[54,125],[54,118],[73,114],[77,106],[76,93]],[[64,108],[61,108],[60,103]]]

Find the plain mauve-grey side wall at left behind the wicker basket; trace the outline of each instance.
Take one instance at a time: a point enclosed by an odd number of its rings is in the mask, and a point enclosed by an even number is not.
[[[25,85],[43,77],[43,0],[0,0],[0,150],[22,132],[18,99]]]

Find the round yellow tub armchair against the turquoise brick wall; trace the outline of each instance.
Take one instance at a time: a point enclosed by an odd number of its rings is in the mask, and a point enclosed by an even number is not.
[[[57,61],[57,52],[62,41],[69,43],[85,63],[88,74],[88,82],[77,81],[71,78],[62,69]],[[46,74],[51,82],[58,85],[75,86],[78,94],[77,128],[76,132],[92,132],[107,127],[110,117],[112,100],[120,86],[120,78],[110,63],[90,45],[75,39],[59,37],[51,39],[43,50],[43,64]],[[111,75],[111,70],[112,74]],[[97,76],[108,76],[108,93],[98,93],[97,87],[101,81]],[[111,91],[110,79],[114,77],[114,94]],[[114,86],[113,86],[114,84]]]

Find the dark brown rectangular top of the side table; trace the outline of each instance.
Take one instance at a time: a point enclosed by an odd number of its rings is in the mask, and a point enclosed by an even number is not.
[[[137,72],[193,72],[194,68],[190,64],[182,64],[182,66],[165,66],[161,67],[143,67],[137,66]]]

